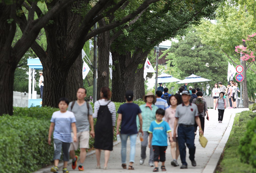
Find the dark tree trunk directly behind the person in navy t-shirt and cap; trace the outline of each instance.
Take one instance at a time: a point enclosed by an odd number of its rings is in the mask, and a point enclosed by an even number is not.
[[[125,102],[125,92],[132,90],[135,84],[135,71],[138,64],[131,59],[131,52],[119,55],[112,51],[115,70],[112,72],[112,102]]]

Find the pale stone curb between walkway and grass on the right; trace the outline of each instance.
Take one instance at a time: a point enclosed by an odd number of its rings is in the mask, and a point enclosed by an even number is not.
[[[229,139],[229,135],[230,135],[230,132],[231,132],[233,124],[234,124],[234,118],[235,118],[235,113],[232,113],[232,116],[229,120],[229,125],[228,125],[221,141],[219,142],[218,147],[215,149],[212,157],[208,161],[208,163],[207,163],[206,167],[203,169],[202,173],[215,173],[215,170],[216,170],[217,165],[219,163],[219,159],[221,157],[221,154],[223,153],[225,145],[226,145],[226,143]]]

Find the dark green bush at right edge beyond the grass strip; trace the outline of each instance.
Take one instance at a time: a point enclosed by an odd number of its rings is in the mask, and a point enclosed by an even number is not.
[[[243,119],[251,120],[255,116],[256,113],[247,111]],[[256,118],[246,124],[246,132],[244,137],[240,139],[238,151],[243,163],[249,163],[256,168]]]

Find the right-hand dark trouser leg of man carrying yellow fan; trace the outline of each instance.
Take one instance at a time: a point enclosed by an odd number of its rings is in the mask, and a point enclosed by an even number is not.
[[[180,140],[180,138],[179,138]],[[196,146],[193,137],[193,127],[187,127],[186,129],[186,144],[189,149],[189,159],[191,161],[195,160]]]

